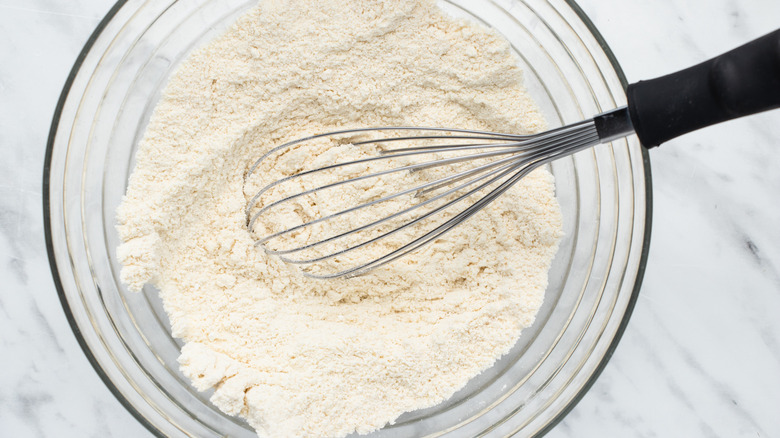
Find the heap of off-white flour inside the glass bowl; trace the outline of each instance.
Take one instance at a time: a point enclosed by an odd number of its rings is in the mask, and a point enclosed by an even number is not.
[[[263,1],[181,65],[149,122],[118,210],[122,280],[160,289],[184,374],[261,436],[368,433],[435,405],[541,305],[561,235],[546,170],[358,278],[308,280],[254,248],[242,185],[263,152],[388,125],[544,128],[508,44],[429,0]]]

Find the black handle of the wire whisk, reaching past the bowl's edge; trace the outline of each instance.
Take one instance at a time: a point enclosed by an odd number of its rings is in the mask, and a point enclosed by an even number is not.
[[[628,86],[646,147],[705,126],[780,107],[780,30],[701,64]]]

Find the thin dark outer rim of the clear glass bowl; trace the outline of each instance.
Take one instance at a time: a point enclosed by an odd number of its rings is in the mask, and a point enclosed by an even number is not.
[[[54,243],[53,243],[52,226],[51,226],[52,225],[51,211],[50,211],[50,202],[49,202],[50,195],[51,195],[51,187],[50,187],[51,159],[54,150],[55,138],[57,135],[57,128],[59,127],[60,118],[62,117],[62,111],[65,106],[65,102],[67,101],[68,96],[70,95],[71,87],[73,86],[76,76],[81,70],[84,60],[86,59],[89,52],[92,50],[92,47],[94,46],[95,42],[103,33],[103,31],[111,22],[111,20],[116,16],[119,10],[122,9],[122,7],[125,4],[127,4],[128,1],[129,0],[117,0],[114,3],[114,5],[111,7],[111,9],[109,9],[109,11],[103,17],[103,19],[100,21],[100,23],[98,23],[98,25],[95,27],[95,30],[89,36],[86,43],[84,44],[84,47],[81,49],[78,56],[76,57],[76,61],[74,62],[73,67],[71,67],[71,70],[68,74],[67,79],[65,80],[65,84],[63,85],[62,91],[57,101],[57,106],[55,107],[51,126],[49,128],[48,139],[46,141],[46,153],[44,156],[44,164],[43,164],[43,181],[42,181],[43,190],[42,190],[42,197],[41,197],[43,201],[43,228],[44,228],[44,234],[46,240],[46,252],[49,259],[49,267],[51,269],[52,280],[54,281],[54,286],[57,289],[57,295],[59,296],[62,309],[65,312],[65,317],[68,320],[68,324],[70,325],[70,328],[73,331],[73,335],[76,337],[76,340],[78,341],[81,350],[84,352],[84,355],[86,356],[89,363],[92,365],[92,368],[95,370],[97,375],[106,385],[108,390],[119,401],[119,403],[121,403],[122,406],[124,406],[125,409],[127,409],[127,411],[154,436],[160,438],[166,438],[161,430],[157,429],[153,424],[151,424],[143,415],[141,415],[141,413],[138,410],[136,410],[136,408],[129,402],[129,400],[125,398],[124,395],[122,395],[122,393],[119,391],[117,386],[111,381],[111,379],[108,377],[106,372],[100,366],[97,359],[95,358],[95,355],[92,353],[92,350],[90,350],[89,346],[87,345],[86,339],[81,334],[81,329],[76,323],[76,319],[68,303],[68,299],[65,295],[65,291],[62,286],[62,281],[60,279],[59,269],[57,268],[57,260],[54,254]],[[623,87],[623,91],[625,92],[626,88],[628,87],[628,81],[626,80],[625,73],[623,72],[623,69],[620,67],[620,63],[618,62],[617,58],[615,57],[615,54],[612,52],[612,49],[609,47],[604,37],[601,35],[599,30],[591,21],[591,19],[587,16],[587,14],[585,14],[582,8],[575,2],[575,0],[563,0],[563,1],[572,9],[572,11],[574,11],[577,17],[583,22],[583,24],[585,24],[590,34],[596,39],[596,42],[599,44],[601,49],[604,51],[604,54],[607,56],[607,59],[609,60],[612,68],[614,69],[615,74],[617,75],[620,84]],[[620,321],[617,331],[615,332],[615,336],[612,338],[612,341],[610,342],[606,350],[606,353],[601,358],[601,361],[596,366],[593,373],[588,377],[588,380],[581,386],[580,391],[569,401],[568,405],[566,405],[555,417],[553,417],[546,426],[540,429],[538,436],[543,436],[547,434],[550,430],[552,430],[555,426],[557,426],[558,423],[560,423],[563,420],[563,418],[565,418],[566,415],[569,412],[571,412],[572,409],[574,409],[574,407],[580,402],[580,400],[582,400],[585,394],[588,393],[590,388],[599,378],[601,373],[604,371],[604,368],[606,367],[607,363],[612,358],[615,349],[620,343],[620,339],[623,337],[623,333],[625,332],[628,322],[631,319],[631,314],[633,313],[634,306],[636,305],[636,301],[639,297],[639,290],[641,289],[642,280],[644,279],[644,274],[647,267],[647,258],[650,249],[650,235],[651,235],[652,217],[653,217],[653,208],[652,208],[653,207],[653,186],[652,186],[652,174],[650,171],[650,156],[648,154],[647,149],[644,146],[641,146],[640,149],[642,154],[642,165],[645,174],[645,194],[644,194],[645,195],[645,229],[644,229],[644,236],[642,238],[642,250],[640,252],[639,264],[636,272],[636,281],[634,283],[633,290],[631,291],[631,296],[629,297],[625,313],[623,314],[623,317]]]

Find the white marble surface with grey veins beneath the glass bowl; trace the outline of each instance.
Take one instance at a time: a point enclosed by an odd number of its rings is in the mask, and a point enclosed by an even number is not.
[[[43,237],[62,84],[111,0],[0,0],[0,436],[144,437],[81,352]],[[629,81],[780,26],[778,0],[582,0]],[[650,261],[604,373],[550,437],[780,436],[780,110],[653,150]]]

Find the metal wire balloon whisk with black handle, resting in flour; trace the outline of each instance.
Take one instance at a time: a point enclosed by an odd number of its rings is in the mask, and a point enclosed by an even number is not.
[[[530,135],[381,127],[294,140],[249,168],[247,227],[258,246],[303,275],[363,274],[442,238],[553,160],[634,133],[650,148],[780,107],[780,30],[631,84],[627,101]],[[283,176],[264,179],[274,172]]]

